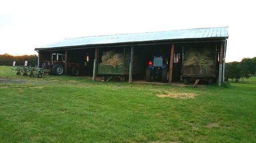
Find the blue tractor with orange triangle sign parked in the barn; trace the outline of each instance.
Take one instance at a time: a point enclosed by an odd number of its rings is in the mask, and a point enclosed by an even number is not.
[[[152,82],[154,80],[161,80],[162,82],[168,82],[168,69],[167,58],[162,55],[153,56],[153,59],[148,62],[148,67],[146,68],[146,81]]]

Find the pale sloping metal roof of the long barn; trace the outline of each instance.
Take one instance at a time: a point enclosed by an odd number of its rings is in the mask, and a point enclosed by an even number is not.
[[[162,40],[185,40],[185,39],[209,39],[209,38],[228,38],[227,27],[196,28],[188,30],[175,30],[164,32],[118,34],[106,36],[91,36],[65,39],[60,42],[45,45],[38,49],[71,47],[71,46],[89,46],[101,44],[134,43]]]

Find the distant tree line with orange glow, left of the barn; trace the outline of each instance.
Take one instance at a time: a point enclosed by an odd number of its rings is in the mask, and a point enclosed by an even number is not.
[[[13,61],[16,61],[16,66],[24,66],[25,61],[28,61],[28,66],[36,66],[37,55],[13,56],[8,53],[0,54],[0,66],[12,66]]]

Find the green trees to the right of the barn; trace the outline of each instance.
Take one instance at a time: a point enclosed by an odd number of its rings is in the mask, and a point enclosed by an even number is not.
[[[241,78],[248,78],[255,75],[256,56],[254,58],[244,58],[241,62],[226,63],[226,79],[239,81]]]

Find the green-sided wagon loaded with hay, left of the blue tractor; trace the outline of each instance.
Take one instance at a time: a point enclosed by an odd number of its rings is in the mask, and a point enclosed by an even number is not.
[[[139,74],[138,54],[134,54],[133,74]],[[98,75],[102,75],[104,80],[111,79],[114,76],[124,81],[129,75],[129,66],[131,61],[131,48],[117,48],[109,50],[98,50]]]

